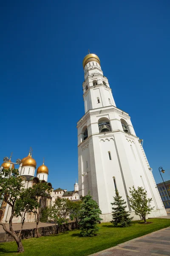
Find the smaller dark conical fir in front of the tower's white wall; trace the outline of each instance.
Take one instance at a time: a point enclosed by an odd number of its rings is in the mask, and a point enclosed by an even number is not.
[[[121,227],[130,226],[133,217],[130,218],[130,213],[125,210],[126,202],[124,199],[121,199],[122,196],[119,195],[119,191],[116,189],[115,192],[116,196],[113,197],[114,202],[111,203],[111,205],[115,206],[112,207],[113,220],[111,221],[111,223],[113,223],[115,227],[117,227],[118,225],[120,225]]]

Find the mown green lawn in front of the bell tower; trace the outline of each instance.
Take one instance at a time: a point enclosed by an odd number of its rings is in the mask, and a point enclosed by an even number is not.
[[[153,218],[148,225],[133,221],[130,227],[113,227],[111,223],[102,223],[98,235],[81,237],[79,230],[68,231],[60,235],[45,236],[23,240],[25,252],[22,256],[88,256],[105,250],[130,239],[143,236],[156,230],[170,226],[170,219]],[[0,244],[0,255],[14,256],[17,245],[15,242]]]

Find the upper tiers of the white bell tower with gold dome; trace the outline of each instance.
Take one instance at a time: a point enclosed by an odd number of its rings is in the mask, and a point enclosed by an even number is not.
[[[88,54],[83,59],[84,77],[83,98],[85,113],[89,109],[115,106],[107,77],[103,75],[100,59],[96,54]]]

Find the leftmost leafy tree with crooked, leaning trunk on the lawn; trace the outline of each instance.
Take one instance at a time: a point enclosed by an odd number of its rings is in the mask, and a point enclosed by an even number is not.
[[[11,216],[9,218],[9,229],[6,224],[0,222],[3,226],[3,230],[11,235],[17,243],[17,252],[22,253],[24,251],[21,236],[17,236],[12,227],[12,219],[15,215],[15,203],[17,198],[20,197],[20,193],[23,190],[23,177],[19,175],[18,169],[3,169],[0,172],[0,200],[3,200],[11,207]]]

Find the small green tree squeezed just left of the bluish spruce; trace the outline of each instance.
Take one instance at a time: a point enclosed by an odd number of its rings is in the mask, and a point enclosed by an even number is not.
[[[78,229],[79,229],[81,208],[82,208],[82,201],[70,201],[69,202],[70,219],[71,219],[71,221],[75,221]]]

